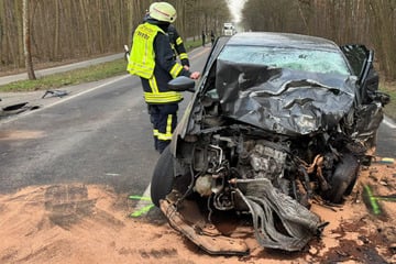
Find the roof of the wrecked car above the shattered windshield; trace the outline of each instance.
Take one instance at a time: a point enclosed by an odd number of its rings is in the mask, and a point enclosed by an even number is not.
[[[231,36],[227,45],[278,46],[340,52],[339,46],[327,38],[293,33],[242,32]]]

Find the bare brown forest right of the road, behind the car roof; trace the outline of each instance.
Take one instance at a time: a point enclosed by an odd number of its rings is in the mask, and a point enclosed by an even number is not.
[[[396,0],[249,0],[243,26],[365,44],[375,52],[382,77],[396,79]]]

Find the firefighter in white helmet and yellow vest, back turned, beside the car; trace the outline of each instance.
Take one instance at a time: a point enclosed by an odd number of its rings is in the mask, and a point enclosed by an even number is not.
[[[144,100],[153,123],[154,146],[160,153],[169,144],[177,124],[178,102],[183,95],[172,91],[167,82],[177,76],[198,79],[199,72],[189,72],[175,61],[166,34],[176,20],[175,8],[167,2],[150,6],[148,18],[134,34],[127,70],[141,77]]]

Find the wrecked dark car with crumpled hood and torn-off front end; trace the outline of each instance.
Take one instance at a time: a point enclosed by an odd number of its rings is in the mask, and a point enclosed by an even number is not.
[[[195,94],[155,166],[152,201],[211,254],[249,252],[230,226],[251,227],[263,248],[300,251],[328,223],[312,200],[342,204],[374,154],[388,97],[373,57],[298,34],[218,38],[195,89],[169,82]]]

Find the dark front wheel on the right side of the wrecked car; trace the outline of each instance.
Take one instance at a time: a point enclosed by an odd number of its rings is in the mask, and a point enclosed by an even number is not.
[[[352,154],[344,154],[330,179],[331,189],[326,193],[326,199],[341,204],[344,195],[351,194],[358,178],[358,158]]]

